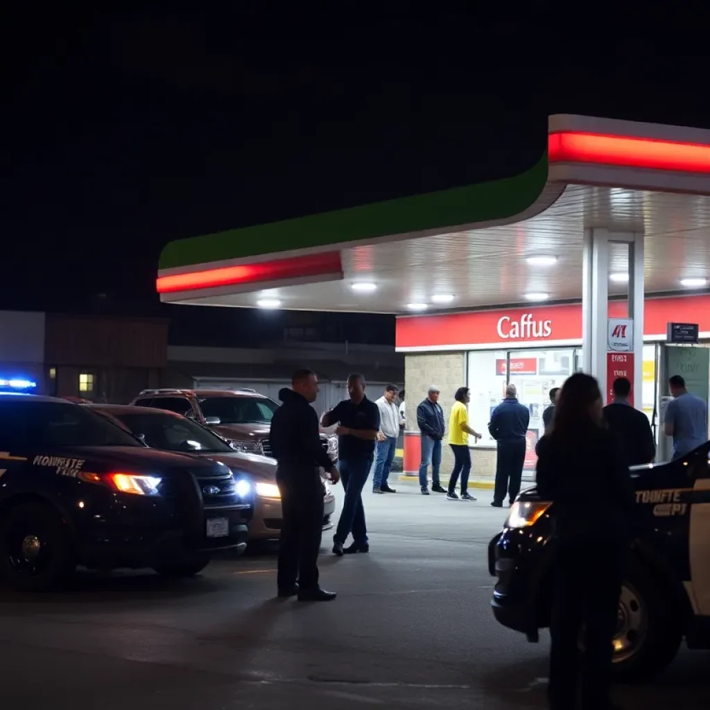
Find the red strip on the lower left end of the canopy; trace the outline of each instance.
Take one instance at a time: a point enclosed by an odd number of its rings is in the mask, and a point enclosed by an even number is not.
[[[274,259],[261,263],[239,264],[239,266],[224,266],[205,271],[159,276],[155,287],[158,293],[175,293],[176,291],[269,283],[334,273],[342,275],[342,272],[340,252],[327,251],[307,256],[294,256],[289,259]]]

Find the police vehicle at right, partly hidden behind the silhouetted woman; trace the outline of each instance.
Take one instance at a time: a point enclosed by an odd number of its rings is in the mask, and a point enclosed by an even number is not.
[[[618,677],[648,677],[682,640],[710,649],[710,442],[665,464],[631,469],[640,535],[619,600],[614,636]],[[550,626],[555,506],[535,488],[518,496],[488,547],[496,619],[537,642]],[[603,512],[589,525],[603,525]]]

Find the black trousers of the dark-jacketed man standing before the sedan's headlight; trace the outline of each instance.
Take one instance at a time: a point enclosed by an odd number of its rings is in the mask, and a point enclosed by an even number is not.
[[[315,589],[323,532],[323,484],[315,469],[279,469],[276,482],[283,510],[277,584],[285,588],[298,581],[301,589]]]

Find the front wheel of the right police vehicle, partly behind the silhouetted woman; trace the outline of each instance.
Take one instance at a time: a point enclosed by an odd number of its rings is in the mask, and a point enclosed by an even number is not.
[[[682,635],[681,613],[670,585],[634,559],[619,599],[614,677],[636,682],[657,675],[674,659]]]

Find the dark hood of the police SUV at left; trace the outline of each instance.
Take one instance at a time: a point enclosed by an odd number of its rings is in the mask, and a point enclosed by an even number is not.
[[[121,447],[121,446],[77,446],[61,447],[56,449],[48,448],[35,452],[33,461],[48,457],[60,459],[75,459],[83,461],[82,469],[91,471],[97,469],[98,473],[123,469],[126,472],[136,473],[157,473],[165,474],[170,469],[189,469],[195,473],[224,469],[224,466],[204,457],[197,457],[194,454],[177,454],[173,452],[160,451],[158,449],[148,449],[143,447]],[[38,465],[53,465],[49,464]],[[60,464],[56,464],[59,466]]]

